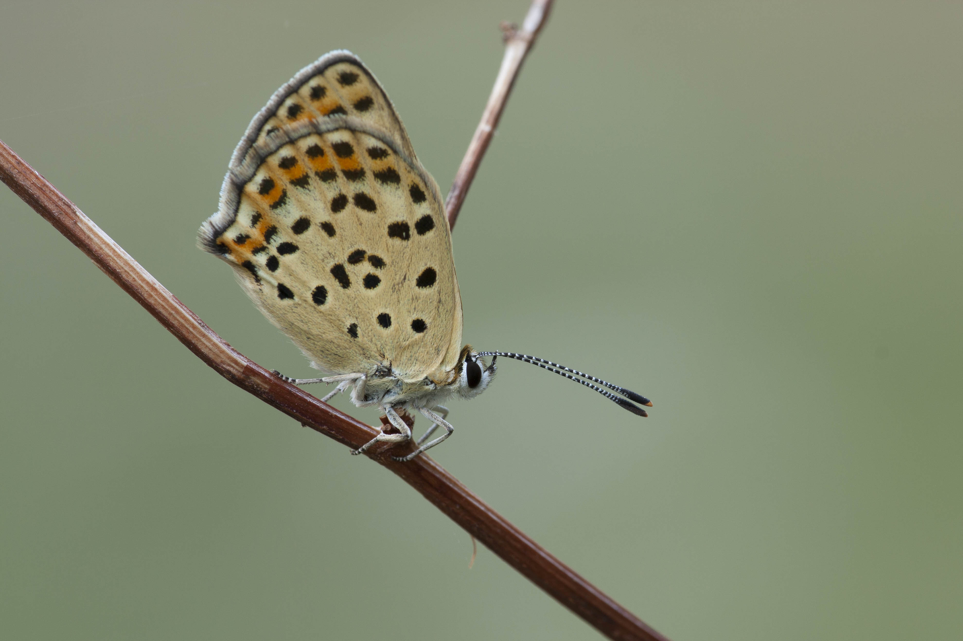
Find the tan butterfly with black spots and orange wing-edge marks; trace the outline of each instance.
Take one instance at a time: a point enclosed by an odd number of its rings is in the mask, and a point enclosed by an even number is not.
[[[581,382],[646,416],[630,401],[651,406],[648,399],[623,387],[543,358],[461,345],[443,202],[375,76],[351,52],[332,51],[251,120],[198,244],[234,268],[268,320],[329,376],[275,374],[296,384],[337,383],[325,402],[350,387],[355,406],[384,411],[398,433],[382,430],[351,454],[410,439],[399,410],[417,410],[431,426],[415,452],[396,460],[445,440],[454,428],[438,404],[481,394],[500,356]],[[445,433],[428,440],[439,426]]]

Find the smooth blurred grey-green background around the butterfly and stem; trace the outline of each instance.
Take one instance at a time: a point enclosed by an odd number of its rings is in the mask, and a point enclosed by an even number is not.
[[[445,191],[526,9],[7,1],[0,138],[310,376],[195,249],[247,122],[349,48]],[[464,337],[655,407],[506,361],[431,454],[676,641],[960,638],[961,33],[959,3],[560,2],[455,229]],[[4,637],[597,636],[0,210]]]

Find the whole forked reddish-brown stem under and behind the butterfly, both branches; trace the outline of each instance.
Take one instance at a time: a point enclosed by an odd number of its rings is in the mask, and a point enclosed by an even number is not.
[[[512,74],[518,72],[521,60],[541,29],[551,4],[550,0],[534,0],[523,30],[529,34],[523,38],[524,51],[519,53],[516,42],[517,38],[522,38],[519,34],[523,32],[515,32],[508,37],[506,62],[502,64],[500,81],[507,68],[513,69]],[[509,63],[509,58],[517,58],[517,62]],[[489,107],[498,105],[493,123],[498,122],[498,115],[505,106],[508,89],[513,80],[512,76],[504,83],[497,82],[495,85],[492,98],[488,101]],[[496,94],[501,94],[502,97],[496,99]],[[489,109],[486,108],[485,113],[488,112]],[[482,124],[484,122],[483,118]],[[476,138],[478,137],[476,133]],[[476,139],[473,139],[465,161],[462,162],[462,168],[470,166],[471,169],[463,181],[455,180],[461,195],[455,196],[453,187],[449,196],[449,215],[453,223],[460,203],[464,200],[464,191],[471,183],[489,139],[490,136],[481,143],[481,147],[476,145]],[[458,176],[461,175],[459,170]],[[83,211],[77,209],[2,141],[0,180],[90,257],[101,271],[150,312],[196,357],[222,377],[299,423],[352,449],[375,437],[377,431],[374,428],[325,405],[293,384],[282,381],[224,342],[221,336],[214,333],[164,285],[147,273],[110,236],[104,234]],[[408,447],[411,447],[410,444]],[[663,635],[649,628],[558,558],[546,552],[498,512],[485,505],[429,456],[422,455],[408,462],[398,462],[385,454],[386,449],[376,447],[366,454],[408,482],[456,524],[480,540],[485,547],[501,556],[511,567],[582,617],[586,623],[612,639],[664,640]],[[395,453],[397,454],[397,450]]]

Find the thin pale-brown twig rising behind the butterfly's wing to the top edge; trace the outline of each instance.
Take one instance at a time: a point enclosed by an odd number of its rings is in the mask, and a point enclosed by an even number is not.
[[[535,38],[545,26],[548,14],[552,11],[552,2],[553,0],[533,0],[521,29],[507,22],[502,23],[502,33],[505,35],[505,57],[502,58],[502,68],[498,70],[495,86],[491,88],[491,94],[488,96],[488,104],[481,112],[481,122],[475,129],[472,141],[468,143],[468,151],[465,152],[465,157],[458,166],[452,189],[445,199],[448,226],[452,229],[455,229],[458,212],[461,211],[465,196],[468,195],[468,187],[475,180],[481,158],[491,143],[491,137],[495,135],[498,121],[502,119],[508,94],[511,93],[511,87],[515,85],[518,72],[522,70],[522,62],[525,62],[526,56],[534,46]]]

